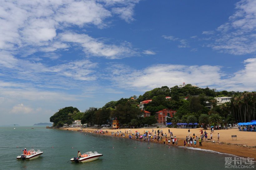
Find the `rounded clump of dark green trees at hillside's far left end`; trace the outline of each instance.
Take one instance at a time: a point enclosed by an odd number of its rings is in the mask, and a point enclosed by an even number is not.
[[[56,112],[53,116],[50,117],[50,122],[53,122],[53,126],[62,126],[63,124],[71,124],[74,116],[74,113],[79,112],[76,107],[65,107]]]

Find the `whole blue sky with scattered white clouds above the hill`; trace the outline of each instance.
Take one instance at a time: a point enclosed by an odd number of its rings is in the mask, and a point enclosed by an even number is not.
[[[256,90],[256,1],[0,1],[0,125],[183,82]]]

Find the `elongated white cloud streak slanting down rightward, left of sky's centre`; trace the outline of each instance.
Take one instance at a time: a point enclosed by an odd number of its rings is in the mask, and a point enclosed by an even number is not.
[[[94,39],[86,34],[63,33],[61,40],[65,42],[78,43],[83,47],[86,54],[94,56],[104,56],[107,59],[121,59],[129,56],[136,56],[138,53],[134,51],[128,42],[121,45],[108,45],[101,40]]]

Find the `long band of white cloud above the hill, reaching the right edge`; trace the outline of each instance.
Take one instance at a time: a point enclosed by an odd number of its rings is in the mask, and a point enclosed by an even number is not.
[[[119,88],[145,92],[156,87],[173,87],[182,82],[218,90],[255,91],[256,58],[246,59],[245,67],[226,74],[221,66],[158,64],[141,70],[126,65],[114,64],[109,70],[110,80]]]

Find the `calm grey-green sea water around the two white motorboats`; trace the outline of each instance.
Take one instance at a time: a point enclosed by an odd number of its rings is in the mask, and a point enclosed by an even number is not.
[[[24,148],[44,153],[34,160],[17,160]],[[78,150],[103,156],[89,163],[71,163]],[[227,155],[69,130],[0,127],[0,169],[224,169],[224,157]]]

